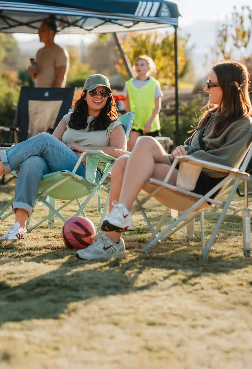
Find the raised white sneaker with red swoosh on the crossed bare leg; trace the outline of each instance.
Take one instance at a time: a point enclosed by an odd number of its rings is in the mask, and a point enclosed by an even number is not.
[[[131,212],[124,204],[117,204],[117,201],[112,201],[114,206],[111,213],[104,218],[101,229],[103,231],[125,232],[134,231],[135,227],[132,223]]]

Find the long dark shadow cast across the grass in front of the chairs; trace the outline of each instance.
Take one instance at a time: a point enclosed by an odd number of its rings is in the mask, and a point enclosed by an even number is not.
[[[164,243],[165,244],[165,243]],[[139,254],[129,249],[130,258],[113,259],[101,263],[84,262],[69,255],[66,249],[53,250],[26,259],[26,263],[38,264],[66,258],[56,270],[12,287],[1,284],[1,322],[30,319],[59,318],[70,313],[69,303],[87,301],[96,297],[128,294],[162,284],[170,279],[171,289],[177,285],[193,283],[192,279],[206,273],[228,273],[248,266],[249,261],[241,258],[227,259],[210,256],[208,261],[199,259],[199,245],[183,247],[173,245],[169,251],[167,243],[149,254]],[[13,259],[12,261],[13,262]],[[149,269],[162,269],[160,274],[139,286],[138,277]],[[154,279],[154,280],[153,280]]]

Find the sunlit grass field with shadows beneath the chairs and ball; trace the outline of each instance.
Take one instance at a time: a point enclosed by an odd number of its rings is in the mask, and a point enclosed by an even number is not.
[[[1,207],[13,193],[14,182],[1,188]],[[160,207],[147,205],[155,223]],[[207,237],[217,212],[205,214]],[[36,208],[34,220],[42,214]],[[98,224],[96,198],[87,216]],[[0,234],[13,220],[1,221]],[[252,259],[243,258],[241,211],[228,212],[208,261],[200,260],[199,220],[194,244],[182,229],[148,255],[139,253],[150,236],[139,212],[134,221],[125,259],[76,259],[60,221],[1,242],[1,369],[252,367]]]

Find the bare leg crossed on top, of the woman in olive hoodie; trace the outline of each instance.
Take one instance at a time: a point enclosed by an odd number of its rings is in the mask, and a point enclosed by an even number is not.
[[[131,210],[146,180],[150,177],[164,179],[170,165],[170,159],[155,138],[140,138],[128,158],[118,203]],[[169,183],[175,184],[176,178],[177,170],[174,170]]]

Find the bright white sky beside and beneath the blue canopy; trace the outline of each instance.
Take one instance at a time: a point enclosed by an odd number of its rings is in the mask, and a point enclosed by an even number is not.
[[[182,17],[179,17],[179,27],[189,26],[195,21],[204,20],[222,20],[225,15],[230,16],[234,6],[237,6],[238,10],[241,11],[241,5],[249,5],[248,0],[175,0],[172,1],[177,4],[178,9]],[[32,39],[38,39],[36,34],[14,34],[15,38],[20,41],[30,41]],[[80,42],[81,38],[83,41],[90,39],[89,36],[80,35],[57,35],[55,41],[62,41],[71,43],[74,39],[74,43]]]

